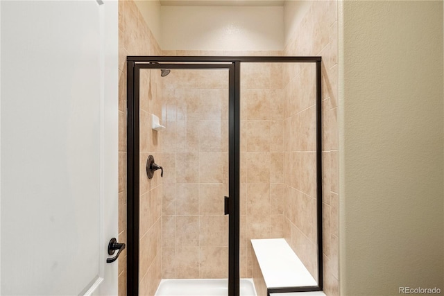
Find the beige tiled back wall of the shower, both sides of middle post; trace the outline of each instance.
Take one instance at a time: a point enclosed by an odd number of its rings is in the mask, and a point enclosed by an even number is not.
[[[164,51],[164,55],[280,54],[270,51]],[[223,76],[218,73],[203,75],[205,71],[175,73],[162,80],[163,116],[167,123],[163,138],[164,163],[168,166],[165,171],[173,172],[164,179],[162,275],[165,278],[226,277],[228,218],[220,213],[223,195],[228,193],[225,181],[228,180],[228,155],[225,153],[223,157],[221,184],[221,171],[214,172],[212,168],[221,166],[221,157],[217,153],[202,152],[219,151],[221,144],[224,151],[228,149],[228,92],[224,89],[223,96],[221,89],[219,94],[214,92],[214,88],[228,87],[228,77],[226,73]],[[268,63],[244,64],[241,83],[241,277],[253,277],[250,239],[284,236],[282,67]],[[216,103],[208,101],[209,95],[217,98]],[[223,121],[219,121],[221,118]],[[207,159],[202,158],[206,156]],[[190,168],[196,163],[199,170]],[[223,234],[222,252],[219,250],[220,233]],[[210,234],[212,238],[205,238]],[[209,251],[215,253],[214,259],[208,261],[202,249],[210,242],[214,249]]]

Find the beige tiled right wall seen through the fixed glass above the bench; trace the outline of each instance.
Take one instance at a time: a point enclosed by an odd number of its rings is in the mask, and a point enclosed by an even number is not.
[[[316,67],[284,68],[285,238],[317,278]]]

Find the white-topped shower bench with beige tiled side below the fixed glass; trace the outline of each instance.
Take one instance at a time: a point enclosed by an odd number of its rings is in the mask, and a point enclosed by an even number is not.
[[[253,281],[258,296],[325,295],[318,292],[273,293],[270,288],[317,286],[305,265],[284,238],[252,239]]]

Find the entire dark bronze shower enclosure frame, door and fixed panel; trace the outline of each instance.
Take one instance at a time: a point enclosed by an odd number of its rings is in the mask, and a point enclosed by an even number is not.
[[[229,187],[228,296],[239,296],[240,68],[242,62],[316,63],[316,221],[318,286],[268,288],[270,293],[323,289],[321,57],[128,56],[127,57],[127,295],[139,295],[139,75],[140,69],[228,69]],[[223,198],[223,196],[221,196]]]

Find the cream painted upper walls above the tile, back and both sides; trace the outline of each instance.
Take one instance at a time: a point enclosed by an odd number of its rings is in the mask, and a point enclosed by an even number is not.
[[[135,1],[162,49],[282,50],[311,7],[311,1],[284,6],[161,6]]]

